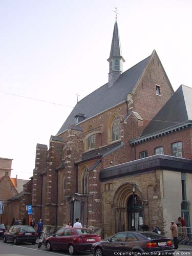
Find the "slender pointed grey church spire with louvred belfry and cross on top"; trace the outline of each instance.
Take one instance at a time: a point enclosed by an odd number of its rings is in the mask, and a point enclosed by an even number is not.
[[[116,20],[113,30],[113,38],[111,43],[111,52],[109,61],[109,87],[112,87],[115,81],[118,79],[120,74],[123,72],[122,66],[123,62],[125,61],[122,54],[121,54],[121,45],[119,39],[119,31],[117,25],[117,8],[116,11]]]

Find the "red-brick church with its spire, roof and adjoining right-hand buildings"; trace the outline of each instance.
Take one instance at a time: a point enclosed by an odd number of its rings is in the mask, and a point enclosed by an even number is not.
[[[117,22],[108,61],[108,83],[36,146],[32,218],[58,229],[78,217],[102,237],[142,224],[169,234],[180,215],[191,222],[192,89],[174,93],[155,50],[122,72]]]

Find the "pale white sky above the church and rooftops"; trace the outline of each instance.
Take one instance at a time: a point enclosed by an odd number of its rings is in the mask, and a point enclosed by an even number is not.
[[[29,179],[37,143],[56,135],[72,108],[108,82],[115,13],[123,70],[156,49],[174,90],[192,87],[191,0],[0,0],[0,157]]]

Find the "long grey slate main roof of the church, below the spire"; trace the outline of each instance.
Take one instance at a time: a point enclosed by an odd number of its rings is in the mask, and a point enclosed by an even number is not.
[[[86,115],[86,118],[84,119],[86,120],[102,111],[108,110],[113,106],[124,102],[127,94],[131,93],[136,87],[139,78],[151,59],[151,56],[152,55],[148,56],[132,68],[122,73],[112,87],[108,88],[108,83],[106,83],[77,102],[75,108],[72,110],[65,123],[63,123],[57,135],[66,131],[70,124],[75,124],[74,116],[79,113]]]

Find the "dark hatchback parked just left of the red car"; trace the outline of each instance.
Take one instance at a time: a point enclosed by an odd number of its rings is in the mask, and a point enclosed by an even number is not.
[[[35,244],[37,239],[37,233],[31,226],[12,226],[9,231],[4,233],[3,241],[12,241],[15,245],[22,242],[30,242]]]

